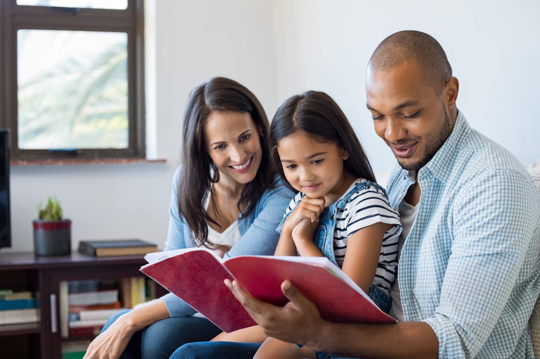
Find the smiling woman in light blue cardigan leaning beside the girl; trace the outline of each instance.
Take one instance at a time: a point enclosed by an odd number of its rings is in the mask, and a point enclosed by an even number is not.
[[[165,250],[205,246],[221,256],[272,255],[294,193],[269,163],[268,119],[241,84],[212,78],[187,104],[183,165],[173,178]],[[109,319],[84,359],[168,358],[220,329],[173,294]]]

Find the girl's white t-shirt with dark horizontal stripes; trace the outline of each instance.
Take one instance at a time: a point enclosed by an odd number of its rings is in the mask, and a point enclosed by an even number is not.
[[[366,182],[366,179],[357,178],[342,197],[352,191],[360,182]],[[302,192],[294,196],[285,211],[285,216],[296,208],[303,196],[305,195]],[[365,187],[350,196],[345,208],[338,209],[334,229],[334,256],[341,267],[343,260],[345,260],[349,237],[360,229],[377,222],[393,224],[392,228],[386,231],[383,236],[379,264],[377,264],[373,280],[373,284],[389,294],[396,275],[397,246],[401,234],[401,223],[398,212],[392,208],[383,191],[374,186]]]

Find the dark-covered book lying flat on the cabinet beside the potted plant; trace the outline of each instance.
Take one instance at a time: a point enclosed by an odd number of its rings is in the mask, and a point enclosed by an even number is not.
[[[89,256],[133,256],[157,252],[158,246],[141,240],[80,241],[79,252]]]

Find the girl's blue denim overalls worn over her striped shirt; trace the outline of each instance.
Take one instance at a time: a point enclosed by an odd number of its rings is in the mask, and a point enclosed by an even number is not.
[[[337,202],[334,202],[330,205],[330,207],[325,208],[319,217],[320,225],[319,228],[317,228],[317,230],[315,231],[315,235],[313,236],[313,243],[315,243],[321,253],[330,261],[332,261],[335,265],[338,265],[334,256],[334,230],[337,221],[336,214],[340,209],[344,209],[346,207],[347,203],[350,201],[350,198],[357,191],[360,191],[362,189],[369,189],[370,187],[375,187],[381,190],[384,193],[384,196],[388,197],[386,194],[386,190],[384,190],[384,188],[382,188],[379,184],[370,181],[360,182],[357,183],[352,190],[347,192],[347,194],[342,196]],[[302,198],[303,196],[304,195],[302,194]],[[285,220],[287,220],[288,216],[291,215],[291,213],[292,211],[289,212],[285,218],[283,218],[276,231],[281,233],[283,224],[285,223]],[[372,284],[371,288],[369,289],[368,296],[375,302],[375,304],[377,304],[377,306],[382,311],[384,311],[384,313],[388,313],[390,311],[390,306],[392,305],[392,298],[390,298],[388,294],[382,291],[381,288]],[[336,300],[339,300],[339,298],[336,297]]]

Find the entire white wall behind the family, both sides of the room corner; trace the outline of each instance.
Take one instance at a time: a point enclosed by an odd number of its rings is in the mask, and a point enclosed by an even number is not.
[[[375,136],[364,71],[382,39],[416,29],[446,50],[458,107],[523,162],[540,159],[538,1],[146,0],[149,154],[166,164],[12,167],[12,249],[32,250],[36,206],[56,195],[81,239],[141,238],[163,245],[171,176],[188,93],[228,76],[272,117],[287,97],[323,90],[341,105],[379,172],[395,159]]]

